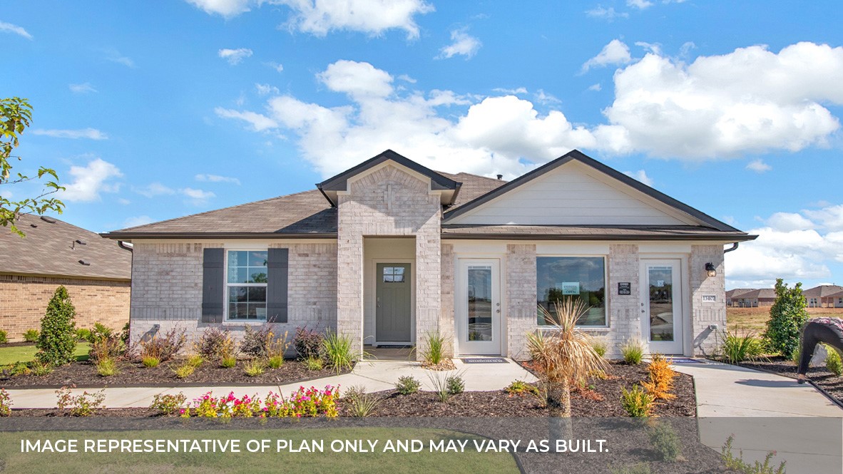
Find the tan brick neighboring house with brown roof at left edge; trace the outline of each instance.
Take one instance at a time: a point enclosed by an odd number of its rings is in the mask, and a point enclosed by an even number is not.
[[[132,253],[94,232],[29,214],[16,223],[26,237],[0,227],[0,329],[10,341],[39,329],[47,303],[64,285],[76,327],[120,329],[129,320]]]

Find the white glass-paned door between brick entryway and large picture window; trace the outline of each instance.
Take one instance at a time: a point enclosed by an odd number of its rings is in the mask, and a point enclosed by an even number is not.
[[[500,263],[459,260],[457,338],[459,354],[501,354]]]

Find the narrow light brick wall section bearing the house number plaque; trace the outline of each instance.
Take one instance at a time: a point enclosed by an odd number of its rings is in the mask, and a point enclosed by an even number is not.
[[[714,264],[717,276],[708,276],[706,264]],[[693,351],[695,355],[711,355],[717,348],[717,324],[726,328],[726,280],[722,245],[692,245],[690,250],[690,312]],[[702,301],[703,295],[715,296],[715,301]]]

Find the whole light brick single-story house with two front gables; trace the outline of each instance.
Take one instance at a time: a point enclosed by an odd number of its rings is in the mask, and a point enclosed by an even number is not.
[[[517,359],[548,327],[537,305],[566,296],[609,354],[710,353],[723,246],[755,237],[577,151],[508,183],[386,151],[314,190],[103,235],[134,245],[132,340],[270,322]]]

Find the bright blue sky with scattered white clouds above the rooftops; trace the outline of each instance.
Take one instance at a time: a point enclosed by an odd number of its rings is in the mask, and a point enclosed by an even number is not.
[[[837,2],[7,2],[21,170],[96,232],[384,148],[507,178],[576,147],[738,228],[728,286],[843,285]],[[0,189],[22,198],[37,189]]]

